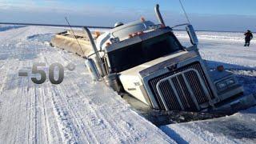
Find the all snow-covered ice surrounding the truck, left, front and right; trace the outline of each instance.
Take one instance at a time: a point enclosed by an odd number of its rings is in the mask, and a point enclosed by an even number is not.
[[[224,118],[156,127],[103,83],[91,82],[84,60],[50,47],[63,28],[0,27],[0,143],[255,143],[256,107]],[[184,46],[186,32],[175,31]],[[256,93],[256,41],[242,33],[198,32],[200,53],[211,69],[223,65]],[[63,66],[64,81],[36,85],[18,70],[35,62]]]

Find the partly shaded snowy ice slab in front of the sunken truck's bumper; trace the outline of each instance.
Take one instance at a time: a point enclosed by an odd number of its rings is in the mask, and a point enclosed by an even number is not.
[[[256,108],[225,118],[161,126],[178,143],[255,143]]]

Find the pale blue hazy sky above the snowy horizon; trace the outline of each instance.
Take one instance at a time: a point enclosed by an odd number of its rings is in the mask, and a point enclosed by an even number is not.
[[[181,0],[196,30],[256,31],[255,0]],[[114,26],[141,17],[157,23],[160,5],[168,26],[186,22],[178,0],[0,0],[0,22]]]

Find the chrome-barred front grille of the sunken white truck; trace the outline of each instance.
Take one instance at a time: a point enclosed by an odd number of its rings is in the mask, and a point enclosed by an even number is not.
[[[199,62],[150,79],[149,84],[162,110],[196,111],[214,98]]]

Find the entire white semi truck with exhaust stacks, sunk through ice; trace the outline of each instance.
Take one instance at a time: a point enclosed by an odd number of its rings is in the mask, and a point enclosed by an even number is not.
[[[152,109],[241,110],[256,104],[254,94],[243,95],[243,87],[234,74],[222,66],[208,69],[198,53],[193,26],[182,25],[192,44],[184,47],[173,29],[165,25],[158,5],[155,12],[160,23],[157,25],[144,18],[126,24],[118,22],[94,38],[85,27],[86,36],[67,41],[87,44],[79,44],[81,50],[65,45],[69,47],[66,49],[85,56],[94,80],[103,80],[118,93],[130,94]],[[57,34],[52,45],[65,49],[59,39],[62,36],[69,34]],[[85,49],[85,45],[89,46]]]

